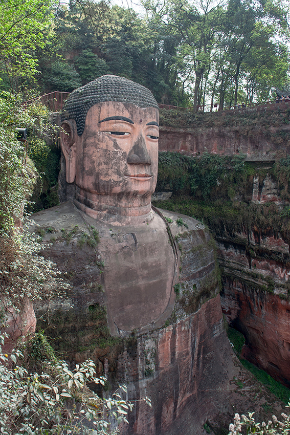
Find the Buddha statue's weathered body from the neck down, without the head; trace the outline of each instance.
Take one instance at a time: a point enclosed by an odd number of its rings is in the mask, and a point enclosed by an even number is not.
[[[129,399],[151,398],[121,433],[203,433],[207,418],[229,408],[236,374],[209,231],[159,209],[139,226],[104,224],[72,202],[33,220],[41,254],[71,284],[35,303],[39,328],[63,358],[91,358],[111,388],[125,382]]]

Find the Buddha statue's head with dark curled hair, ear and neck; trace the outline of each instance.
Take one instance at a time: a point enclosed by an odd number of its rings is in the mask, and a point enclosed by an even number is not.
[[[105,75],[65,103],[60,133],[76,205],[101,215],[150,212],[158,172],[158,104],[131,80]]]

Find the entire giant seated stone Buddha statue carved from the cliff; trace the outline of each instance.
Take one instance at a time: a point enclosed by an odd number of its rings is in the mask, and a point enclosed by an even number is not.
[[[31,227],[71,287],[34,309],[65,359],[93,359],[111,385],[127,384],[129,400],[151,397],[122,433],[201,435],[209,412],[228,403],[230,346],[209,231],[151,206],[158,124],[151,92],[125,78],[71,94],[59,184],[75,193],[35,213]]]

